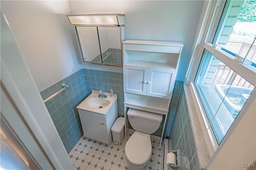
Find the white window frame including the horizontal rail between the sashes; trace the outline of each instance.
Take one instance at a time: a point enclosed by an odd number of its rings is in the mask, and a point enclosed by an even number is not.
[[[256,87],[256,76],[250,76],[252,73],[255,75],[255,67],[251,65],[242,65],[234,61],[234,56],[230,53],[224,51],[223,49],[218,49],[212,47],[212,42],[214,41],[214,36],[217,34],[218,24],[221,22],[221,16],[223,12],[226,12],[225,5],[229,3],[228,1],[214,1],[214,2],[205,2],[204,8],[206,8],[205,13],[201,15],[200,23],[198,26],[196,38],[197,40],[194,42],[192,52],[192,59],[190,61],[188,73],[186,75],[186,85],[189,85],[190,92],[192,94],[193,102],[196,107],[198,118],[200,121],[201,128],[203,130],[207,148],[210,154],[210,157],[214,154],[214,152],[219,147],[218,142],[215,138],[215,135],[212,131],[210,123],[208,121],[206,112],[194,85],[194,80],[196,78],[196,73],[198,71],[200,60],[204,53],[204,49],[209,51],[212,55],[218,58],[222,63],[226,64],[232,70],[239,73],[244,79],[246,79],[249,83]],[[204,9],[203,9],[204,11]],[[203,16],[203,19],[202,19]],[[243,113],[243,109],[240,111],[240,114]],[[232,126],[231,126],[232,127]],[[231,130],[230,127],[230,130]],[[230,131],[229,130],[229,131]],[[207,131],[207,132],[206,132]]]

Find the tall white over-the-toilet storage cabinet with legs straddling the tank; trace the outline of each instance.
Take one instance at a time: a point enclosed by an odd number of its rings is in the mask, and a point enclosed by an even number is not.
[[[126,134],[129,108],[166,115],[165,127],[182,42],[126,40],[122,45]]]

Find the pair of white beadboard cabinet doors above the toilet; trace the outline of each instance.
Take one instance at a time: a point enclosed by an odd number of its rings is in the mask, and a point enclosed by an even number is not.
[[[124,65],[124,92],[171,99],[176,69]]]

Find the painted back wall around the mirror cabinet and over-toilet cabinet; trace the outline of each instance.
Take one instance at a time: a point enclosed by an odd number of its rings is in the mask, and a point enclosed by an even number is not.
[[[125,14],[125,38],[184,43],[177,79],[183,80],[204,1],[74,1],[72,14]],[[84,68],[88,65],[83,64]],[[90,67],[90,66],[89,66]],[[95,69],[103,69],[95,65]],[[108,66],[108,69],[111,68]],[[114,69],[114,68],[112,68]],[[116,67],[117,71],[122,71]]]

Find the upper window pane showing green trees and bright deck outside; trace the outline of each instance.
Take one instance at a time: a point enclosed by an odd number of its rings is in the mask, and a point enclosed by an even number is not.
[[[255,38],[256,0],[227,1],[213,43],[256,63]]]

